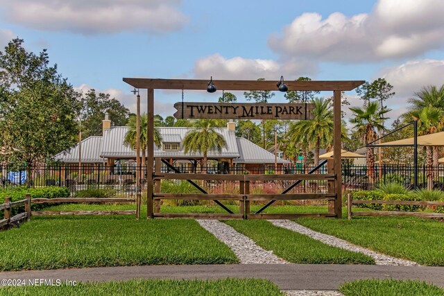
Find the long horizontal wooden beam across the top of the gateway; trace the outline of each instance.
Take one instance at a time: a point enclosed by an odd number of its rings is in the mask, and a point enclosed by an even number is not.
[[[123,81],[138,89],[200,89],[207,90],[208,80],[193,79],[154,79],[154,78],[123,78]],[[218,89],[234,90],[268,90],[278,91],[279,80],[213,80]],[[285,84],[291,90],[305,91],[348,91],[359,87],[364,80],[349,81],[296,81],[286,80]]]

